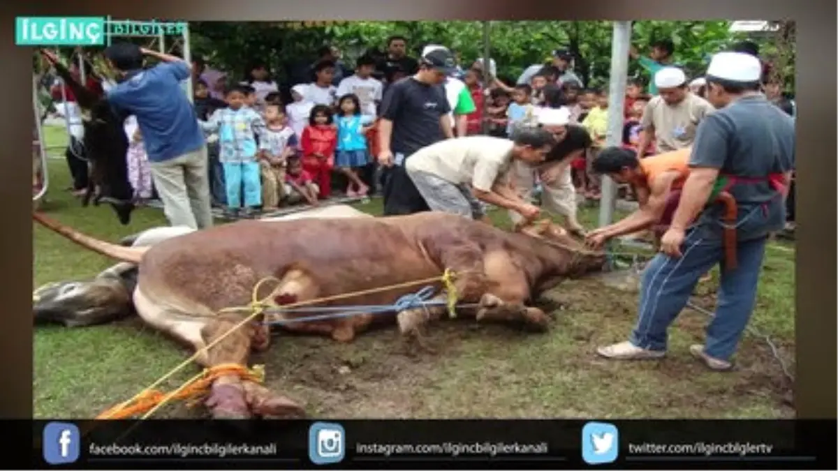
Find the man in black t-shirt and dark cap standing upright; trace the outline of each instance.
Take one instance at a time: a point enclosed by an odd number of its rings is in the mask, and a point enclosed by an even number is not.
[[[408,177],[404,163],[412,153],[453,137],[442,82],[454,68],[447,49],[422,57],[415,75],[390,85],[380,106],[378,162],[384,168],[384,215],[410,215],[429,210],[422,194]]]

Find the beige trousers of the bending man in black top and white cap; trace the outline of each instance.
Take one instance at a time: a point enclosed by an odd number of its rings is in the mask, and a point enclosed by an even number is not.
[[[576,189],[573,187],[569,163],[561,163],[561,175],[551,184],[541,184],[541,206],[551,213],[562,215],[568,222],[577,222]],[[512,168],[512,181],[515,191],[525,201],[532,199],[535,189],[535,170],[520,161],[515,161]],[[524,220],[523,216],[510,211],[513,224]]]

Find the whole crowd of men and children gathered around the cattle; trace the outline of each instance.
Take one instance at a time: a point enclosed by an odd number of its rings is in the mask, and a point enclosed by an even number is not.
[[[318,204],[339,173],[346,195],[380,192],[385,215],[437,210],[491,224],[486,209],[494,206],[520,228],[543,209],[596,249],[654,230],[662,252],[644,272],[637,326],[629,341],[597,350],[634,360],[664,355],[666,329],[691,288],[712,266],[732,263],[724,259],[726,226],[713,222],[722,216],[711,207],[729,194],[739,215],[737,269],[722,275],[720,312],[707,343],[691,351],[714,370],[730,368],[765,241],[794,218],[794,101],[754,44],[715,54],[699,77],[680,68],[671,41],[652,44],[648,56],[633,49],[649,76],[629,80],[621,110],[609,107],[607,91],[585,87],[566,49],[505,83],[494,60],[463,68],[443,45],[427,45],[418,59],[403,37],[387,46],[353,70],[324,48],[311,80],[292,84],[286,102],[263,63],[245,80],[228,80],[202,60],[190,67],[112,45],[106,56],[122,79],[108,97],[135,116],[127,121],[137,143],[131,168],[150,169],[132,173],[138,195],[148,194],[150,174],[170,222],[202,228],[212,224],[213,203],[238,216]],[[143,69],[143,54],[163,63]],[[182,80],[194,80],[194,105]],[[613,113],[623,117],[623,136],[608,147]],[[577,194],[599,199],[603,174],[625,184],[639,210],[586,233]]]

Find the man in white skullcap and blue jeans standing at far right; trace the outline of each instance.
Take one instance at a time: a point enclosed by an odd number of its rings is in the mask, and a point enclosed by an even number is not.
[[[599,355],[664,356],[670,323],[698,279],[721,265],[706,342],[690,351],[712,370],[732,367],[753,312],[766,241],[784,226],[794,168],[794,122],[759,92],[761,76],[762,65],[752,55],[713,56],[705,78],[707,98],[718,111],[698,127],[670,228],[644,271],[637,324],[629,341],[597,349]]]

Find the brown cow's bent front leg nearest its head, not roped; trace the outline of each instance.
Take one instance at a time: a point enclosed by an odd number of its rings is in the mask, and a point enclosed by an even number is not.
[[[484,267],[487,290],[480,298],[477,320],[500,322],[522,321],[538,329],[547,329],[549,319],[539,308],[525,306],[530,298],[530,285],[525,273],[504,251],[486,254]]]

